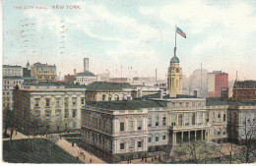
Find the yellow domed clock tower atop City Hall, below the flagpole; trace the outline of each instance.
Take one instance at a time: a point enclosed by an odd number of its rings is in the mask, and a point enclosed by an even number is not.
[[[176,97],[177,94],[182,94],[182,70],[179,68],[179,59],[176,56],[176,47],[174,47],[174,56],[169,62],[166,92],[169,94],[169,97]]]

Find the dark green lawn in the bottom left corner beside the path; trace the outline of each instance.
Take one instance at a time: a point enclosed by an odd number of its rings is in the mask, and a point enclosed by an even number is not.
[[[82,163],[64,149],[45,138],[3,141],[3,160],[9,163]],[[52,149],[52,150],[50,150]]]

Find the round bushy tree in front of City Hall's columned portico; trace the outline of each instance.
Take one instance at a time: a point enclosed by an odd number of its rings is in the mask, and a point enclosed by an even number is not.
[[[184,142],[173,146],[172,155],[179,159],[179,162],[207,163],[215,154],[213,148],[205,141]]]

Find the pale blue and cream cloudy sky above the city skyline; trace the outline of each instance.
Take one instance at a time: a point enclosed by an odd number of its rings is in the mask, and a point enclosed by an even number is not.
[[[5,0],[3,64],[55,64],[63,76],[83,72],[90,58],[95,74],[155,77],[158,69],[165,79],[176,25],[187,35],[177,34],[186,77],[202,63],[229,81],[236,71],[238,80],[256,80],[255,7],[255,0]]]

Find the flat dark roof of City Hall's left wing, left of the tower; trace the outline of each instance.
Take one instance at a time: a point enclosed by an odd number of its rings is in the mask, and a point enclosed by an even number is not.
[[[153,100],[123,100],[123,101],[100,101],[92,102],[88,105],[111,110],[136,110],[140,108],[158,108],[166,107],[164,101],[153,101]]]

